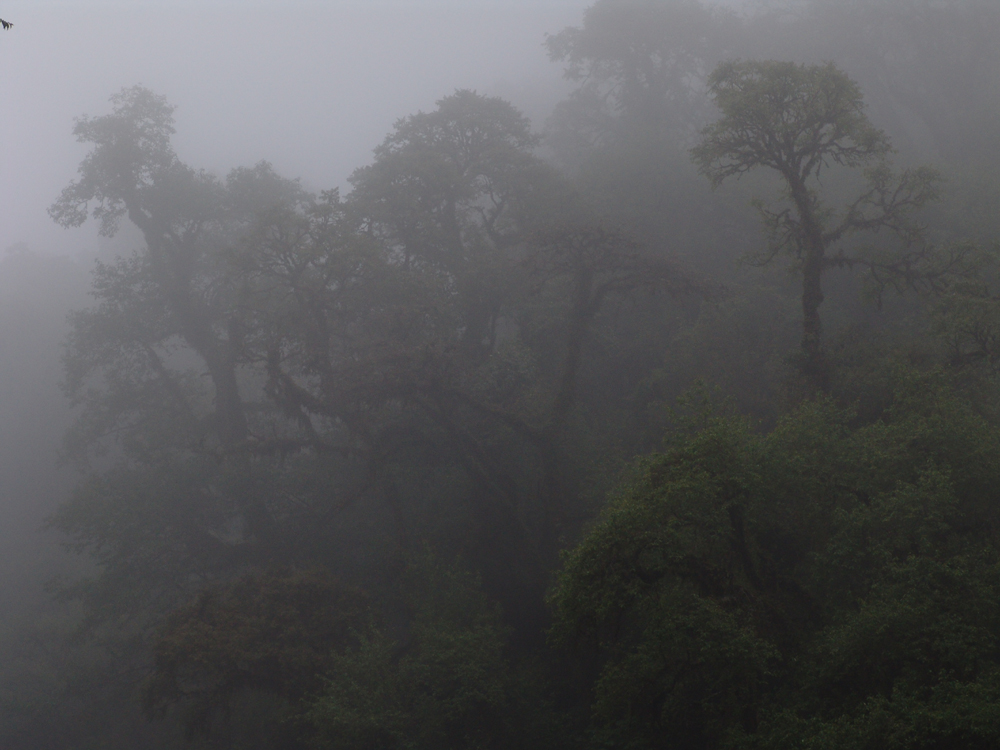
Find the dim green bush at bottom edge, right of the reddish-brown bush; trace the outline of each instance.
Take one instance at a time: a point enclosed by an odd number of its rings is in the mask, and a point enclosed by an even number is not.
[[[425,553],[406,584],[402,643],[369,629],[334,657],[308,713],[317,748],[503,747],[537,711],[519,699],[506,629],[476,576]],[[517,712],[517,713],[515,713]]]

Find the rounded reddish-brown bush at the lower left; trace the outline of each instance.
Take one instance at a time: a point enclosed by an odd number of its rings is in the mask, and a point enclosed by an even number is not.
[[[210,735],[256,690],[295,706],[336,669],[335,649],[366,619],[360,592],[328,574],[251,574],[202,591],[171,613],[155,644],[147,711],[181,709],[190,736]]]

